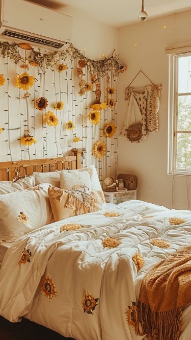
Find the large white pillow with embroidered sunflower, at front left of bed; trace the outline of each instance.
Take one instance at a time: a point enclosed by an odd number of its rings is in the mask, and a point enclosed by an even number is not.
[[[52,223],[49,183],[0,196],[0,239],[18,237]]]

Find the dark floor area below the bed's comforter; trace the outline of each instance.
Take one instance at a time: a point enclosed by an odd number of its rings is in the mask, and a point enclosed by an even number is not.
[[[12,323],[0,317],[1,340],[74,340],[26,319]]]

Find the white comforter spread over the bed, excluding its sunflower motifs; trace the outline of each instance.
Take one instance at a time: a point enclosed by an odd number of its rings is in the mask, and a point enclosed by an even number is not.
[[[70,217],[15,241],[0,270],[0,314],[13,322],[24,315],[76,340],[142,339],[128,326],[125,310],[138,300],[142,279],[151,266],[191,243],[191,211],[142,201],[125,202],[112,211],[120,216],[105,217],[104,210]],[[172,216],[186,222],[171,226]],[[60,233],[60,227],[71,222],[83,227]],[[120,245],[103,248],[107,237],[117,238]],[[150,239],[157,237],[170,242],[170,248],[153,246]],[[19,265],[24,248],[31,251],[30,262]],[[145,261],[140,272],[132,261],[137,252]],[[58,292],[51,301],[41,293],[47,274]],[[84,312],[84,290],[98,299],[92,314]],[[183,312],[182,340],[190,339],[190,310],[188,306]]]

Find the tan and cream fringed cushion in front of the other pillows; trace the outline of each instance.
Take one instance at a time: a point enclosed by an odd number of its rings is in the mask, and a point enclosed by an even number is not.
[[[48,196],[55,222],[101,210],[99,195],[95,191],[90,191],[86,186],[73,190],[49,186]]]

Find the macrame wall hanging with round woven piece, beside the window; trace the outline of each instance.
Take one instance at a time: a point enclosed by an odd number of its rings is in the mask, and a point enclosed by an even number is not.
[[[135,78],[140,74],[152,83],[143,88],[130,87]],[[127,104],[127,114],[121,131],[121,135],[130,142],[141,142],[148,132],[158,131],[158,111],[160,99],[160,84],[154,84],[146,74],[140,70],[125,89],[125,100]]]

